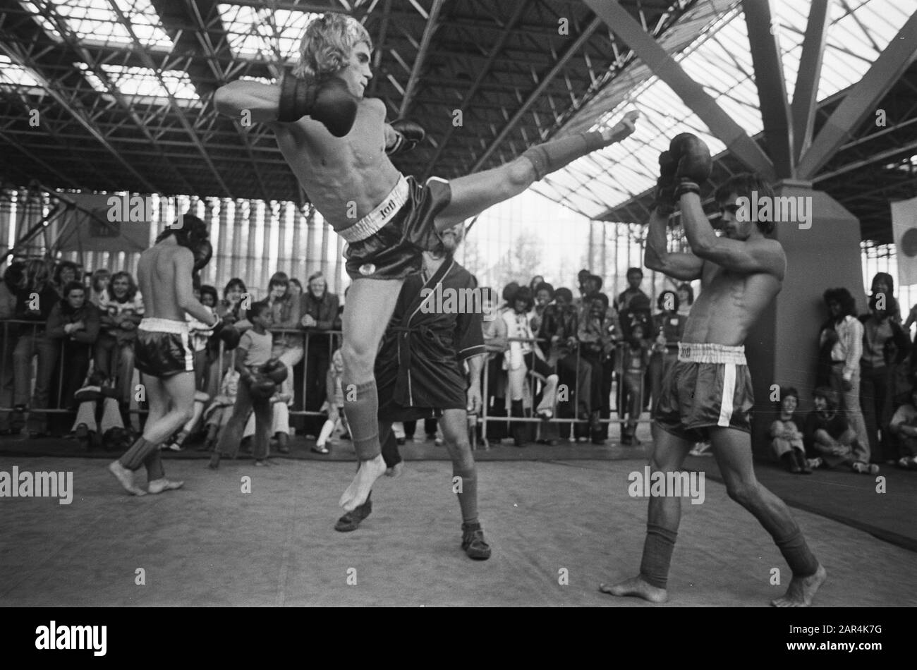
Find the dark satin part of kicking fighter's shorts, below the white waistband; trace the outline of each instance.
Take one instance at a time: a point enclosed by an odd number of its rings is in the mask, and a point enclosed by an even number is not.
[[[344,252],[350,279],[401,280],[420,272],[421,254],[440,243],[434,221],[452,200],[448,181],[430,177],[408,182],[407,201],[377,232],[348,244]]]

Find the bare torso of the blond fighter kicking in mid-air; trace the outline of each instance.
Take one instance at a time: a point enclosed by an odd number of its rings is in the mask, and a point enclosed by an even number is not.
[[[359,102],[347,137],[333,137],[324,126],[303,117],[273,124],[283,158],[310,201],[336,230],[354,225],[392,192],[399,172],[385,154],[385,104]]]

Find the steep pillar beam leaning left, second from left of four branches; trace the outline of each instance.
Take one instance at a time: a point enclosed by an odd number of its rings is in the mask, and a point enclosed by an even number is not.
[[[764,139],[778,179],[793,176],[796,159],[793,155],[793,126],[787,83],[783,79],[783,63],[778,44],[779,25],[774,23],[771,0],[742,0],[748,27],[748,45],[755,68],[758,104],[764,122]],[[765,30],[764,27],[770,27]]]

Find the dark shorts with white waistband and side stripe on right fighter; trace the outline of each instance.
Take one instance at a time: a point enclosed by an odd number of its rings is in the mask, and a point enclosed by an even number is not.
[[[716,426],[751,433],[754,406],[744,346],[679,343],[653,418],[666,433],[706,442]]]

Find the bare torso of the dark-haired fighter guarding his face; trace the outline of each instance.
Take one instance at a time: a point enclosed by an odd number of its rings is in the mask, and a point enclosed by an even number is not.
[[[701,295],[691,305],[682,342],[739,346],[780,292],[783,271],[739,274],[706,261]]]

